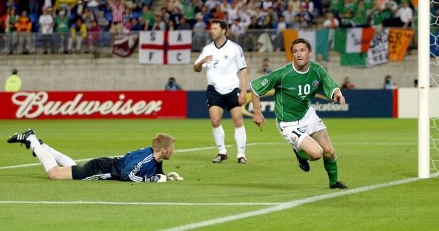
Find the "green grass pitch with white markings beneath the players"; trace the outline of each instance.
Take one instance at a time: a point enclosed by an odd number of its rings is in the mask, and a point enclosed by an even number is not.
[[[273,120],[263,132],[245,120],[246,165],[236,162],[231,120],[222,125],[229,160],[212,164],[210,120],[0,120],[0,230],[439,228],[439,178],[410,180],[417,177],[416,120],[325,119],[348,191],[329,189],[322,160],[302,172]],[[27,128],[75,160],[123,155],[165,132],[177,141],[164,171],[185,180],[48,180],[29,150],[6,143]]]

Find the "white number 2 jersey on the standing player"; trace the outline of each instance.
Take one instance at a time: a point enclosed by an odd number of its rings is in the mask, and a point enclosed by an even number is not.
[[[247,68],[242,48],[231,40],[226,40],[222,47],[216,47],[215,42],[211,42],[203,48],[194,64],[210,55],[212,61],[202,66],[207,69],[208,85],[214,86],[222,95],[239,88],[238,71]]]

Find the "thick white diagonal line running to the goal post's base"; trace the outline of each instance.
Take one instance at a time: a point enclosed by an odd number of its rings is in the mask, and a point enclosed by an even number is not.
[[[438,177],[438,175],[439,175],[439,173],[431,174],[430,178],[431,177]],[[406,183],[410,183],[410,182],[415,182],[417,180],[422,180],[422,179],[408,178],[405,180],[398,180],[395,182],[389,182],[389,183],[385,183],[385,184],[375,184],[375,185],[370,185],[370,186],[364,186],[364,187],[357,188],[357,189],[343,190],[343,191],[339,191],[337,193],[330,193],[330,194],[325,194],[325,195],[321,195],[321,196],[313,196],[311,198],[305,198],[305,199],[301,199],[301,200],[291,200],[289,202],[283,202],[281,205],[277,205],[275,207],[269,207],[267,209],[260,209],[260,210],[256,210],[253,212],[245,212],[243,214],[236,214],[233,216],[224,216],[221,218],[215,218],[215,219],[211,219],[211,220],[207,220],[207,221],[191,223],[188,225],[182,225],[182,226],[177,226],[174,228],[169,228],[169,229],[164,230],[164,231],[180,231],[180,230],[192,230],[195,228],[202,228],[202,227],[206,227],[209,225],[216,225],[216,224],[225,223],[228,221],[236,221],[236,220],[240,220],[240,219],[248,218],[248,217],[252,217],[252,216],[259,216],[259,215],[270,214],[272,212],[279,212],[279,211],[282,211],[285,209],[291,209],[293,207],[298,207],[299,205],[305,205],[305,204],[311,203],[311,202],[316,202],[316,201],[320,201],[320,200],[328,200],[331,198],[337,198],[339,196],[346,196],[346,195],[351,195],[351,194],[355,194],[355,193],[362,193],[364,191],[385,188],[388,186],[406,184]]]

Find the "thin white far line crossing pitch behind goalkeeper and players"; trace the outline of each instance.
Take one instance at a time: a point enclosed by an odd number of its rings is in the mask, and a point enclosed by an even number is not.
[[[246,146],[254,146],[254,145],[282,145],[282,144],[286,144],[286,143],[271,143],[271,142],[267,142],[267,143],[247,143]],[[417,143],[333,143],[333,145],[417,145]],[[226,148],[230,148],[233,147],[234,145],[226,145]],[[194,152],[194,151],[201,151],[201,150],[210,150],[210,149],[215,149],[217,147],[213,146],[213,147],[204,147],[204,148],[189,148],[189,149],[183,149],[183,150],[176,150],[175,152]],[[118,156],[116,156],[118,157]],[[113,157],[111,157],[113,158]],[[75,160],[75,162],[82,162],[82,161],[89,161],[92,158],[88,158],[88,159],[77,159]],[[31,167],[31,166],[40,166],[39,163],[35,163],[35,164],[19,164],[19,165],[14,165],[14,166],[3,166],[0,167],[0,170],[2,169],[8,169],[8,168],[26,168],[26,167]]]

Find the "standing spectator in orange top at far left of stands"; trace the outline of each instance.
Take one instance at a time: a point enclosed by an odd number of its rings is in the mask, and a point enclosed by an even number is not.
[[[23,10],[22,16],[17,22],[18,33],[18,54],[29,53],[33,51],[33,43],[31,37],[32,22],[27,17],[27,11]],[[26,52],[23,52],[24,43],[26,43]]]

